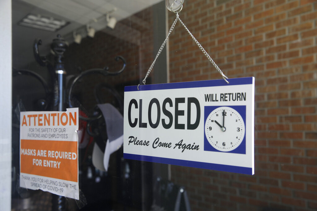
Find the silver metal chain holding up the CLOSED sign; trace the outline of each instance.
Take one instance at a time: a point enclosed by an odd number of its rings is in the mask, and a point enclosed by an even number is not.
[[[149,76],[149,74],[150,74],[150,72],[151,72],[151,70],[152,70],[152,68],[153,68],[153,66],[154,66],[154,64],[155,64],[155,62],[156,62],[156,59],[159,57],[159,54],[162,52],[162,50],[163,50],[163,48],[164,48],[164,46],[165,46],[165,44],[166,44],[166,42],[167,42],[167,39],[168,39],[168,37],[170,36],[171,32],[173,31],[173,29],[174,29],[174,27],[175,27],[175,25],[176,25],[176,22],[177,22],[178,20],[179,20],[179,22],[184,26],[184,28],[186,29],[186,31],[188,32],[188,34],[191,36],[191,38],[194,40],[194,42],[197,44],[197,46],[199,47],[199,49],[204,53],[204,55],[205,55],[205,56],[207,57],[207,59],[211,62],[211,64],[214,65],[214,67],[215,67],[215,68],[217,69],[217,71],[221,74],[221,76],[223,77],[223,79],[229,84],[229,81],[226,80],[226,79],[228,79],[228,77],[223,74],[223,72],[219,69],[219,67],[216,65],[216,63],[211,59],[211,57],[209,56],[209,54],[208,54],[208,53],[205,51],[205,49],[200,45],[200,43],[196,40],[196,38],[191,34],[191,32],[188,30],[188,28],[185,26],[185,24],[184,24],[184,23],[182,22],[182,20],[179,18],[178,12],[176,12],[176,19],[175,19],[175,21],[173,22],[173,24],[172,24],[172,26],[171,26],[171,28],[170,28],[170,31],[169,31],[168,34],[167,34],[167,37],[165,38],[165,40],[164,40],[162,46],[161,46],[160,49],[159,49],[158,54],[156,55],[156,57],[155,57],[155,59],[154,59],[152,65],[150,66],[149,70],[148,70],[147,73],[146,73],[145,78],[144,78],[143,81],[142,81],[143,84],[145,84],[146,78]],[[139,85],[140,85],[140,84],[139,84]],[[139,90],[139,85],[138,85],[138,90]]]

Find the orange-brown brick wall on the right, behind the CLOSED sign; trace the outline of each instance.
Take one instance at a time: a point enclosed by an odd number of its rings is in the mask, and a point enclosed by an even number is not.
[[[225,75],[256,78],[255,175],[171,166],[192,210],[316,210],[316,1],[191,0],[179,16]],[[171,82],[221,78],[179,22],[169,47]]]

